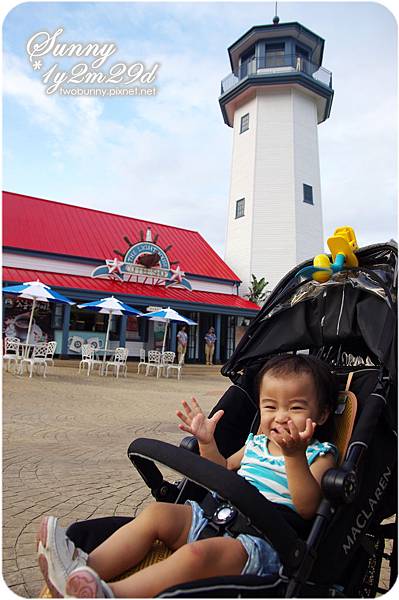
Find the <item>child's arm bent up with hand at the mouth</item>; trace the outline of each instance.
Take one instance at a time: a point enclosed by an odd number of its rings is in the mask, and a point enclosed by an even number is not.
[[[294,506],[301,517],[311,519],[321,500],[321,479],[327,469],[335,466],[335,460],[331,454],[327,454],[317,458],[309,467],[306,448],[312,439],[316,423],[307,419],[305,431],[302,432],[292,422],[288,426],[289,432],[280,427],[279,432],[271,432],[270,437],[284,454],[288,488]]]

